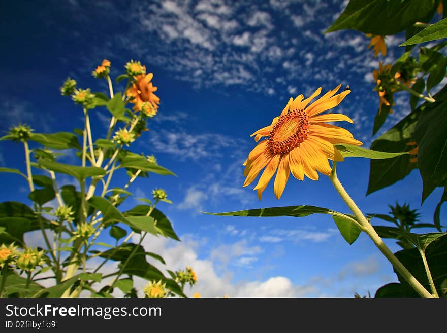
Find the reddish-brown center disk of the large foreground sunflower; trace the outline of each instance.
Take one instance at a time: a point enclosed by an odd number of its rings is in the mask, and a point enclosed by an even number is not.
[[[304,110],[295,110],[279,117],[270,131],[269,149],[273,154],[289,153],[309,134],[309,117]]]

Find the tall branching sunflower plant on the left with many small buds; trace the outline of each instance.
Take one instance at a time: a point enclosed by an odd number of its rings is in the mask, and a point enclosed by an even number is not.
[[[138,178],[175,174],[153,155],[130,150],[158,112],[152,73],[140,62],[126,63],[116,82],[127,84],[116,92],[110,66],[104,59],[92,71],[94,78],[106,80],[107,94],[80,88],[70,78],[60,87],[61,95],[71,97],[82,112],[83,129],[47,134],[19,124],[0,138],[13,141],[11,149],[23,146],[24,171],[0,171],[21,176],[31,201],[0,203],[0,297],[185,297],[185,283],[192,286],[197,280],[191,268],[187,281],[170,270],[165,276],[150,263],[164,265],[163,258],[142,244],[149,237],[180,240],[159,210],[162,202],[171,203],[163,189],[148,192],[131,209],[118,209],[132,196],[129,187]],[[97,138],[90,127],[92,112],[110,116],[107,128],[94,128]],[[66,163],[69,151],[78,163]],[[127,182],[113,181],[118,174],[127,175]],[[61,181],[66,184],[60,186]],[[24,236],[31,232],[40,233],[37,248],[26,244]],[[137,287],[136,277],[148,284]]]

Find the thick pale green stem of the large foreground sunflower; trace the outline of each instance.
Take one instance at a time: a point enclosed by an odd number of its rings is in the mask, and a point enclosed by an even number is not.
[[[349,194],[347,194],[346,190],[343,188],[340,180],[337,178],[336,173],[337,162],[334,161],[332,173],[329,178],[332,181],[335,189],[337,190],[340,197],[346,203],[350,210],[354,213],[360,225],[362,226],[363,231],[371,238],[377,248],[382,252],[385,257],[390,261],[390,263],[394,266],[394,268],[403,276],[403,278],[416,290],[422,297],[433,297],[433,295],[424,288],[424,286],[416,279],[414,276],[402,265],[402,263],[398,260],[398,258],[391,252],[391,250],[385,245],[384,241],[380,238],[379,235],[375,232],[374,228],[365,218],[363,213],[360,211],[359,207],[357,207],[356,203],[351,199]]]

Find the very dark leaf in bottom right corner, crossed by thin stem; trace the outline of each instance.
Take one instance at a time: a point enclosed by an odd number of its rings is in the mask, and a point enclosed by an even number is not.
[[[421,254],[417,248],[401,250],[395,253],[399,261],[410,271],[410,273],[427,289],[430,289],[425,266]],[[438,291],[444,295],[447,291],[447,235],[433,241],[425,250],[425,256],[430,268],[430,273]],[[402,294],[404,297],[419,297],[419,294],[408,284],[408,282],[394,269],[402,284]]]

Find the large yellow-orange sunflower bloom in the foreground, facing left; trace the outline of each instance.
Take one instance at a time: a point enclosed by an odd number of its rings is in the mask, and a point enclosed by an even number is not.
[[[279,199],[289,179],[289,173],[299,180],[303,180],[304,175],[312,180],[318,180],[316,171],[325,175],[331,174],[328,159],[343,161],[343,157],[333,144],[363,144],[354,139],[349,131],[325,124],[342,120],[353,123],[349,117],[342,114],[321,114],[337,106],[350,93],[350,90],[346,89],[335,95],[340,86],[328,91],[310,105],[309,102],[320,95],[321,87],[309,98],[303,99],[303,95],[291,98],[281,115],[274,118],[271,125],[251,134],[255,136],[256,141],[261,137],[267,137],[254,147],[244,162],[244,176],[246,176],[244,187],[248,186],[265,167],[257,186],[254,187],[254,190],[258,190],[259,200],[276,170],[278,171],[274,181],[274,193]]]

